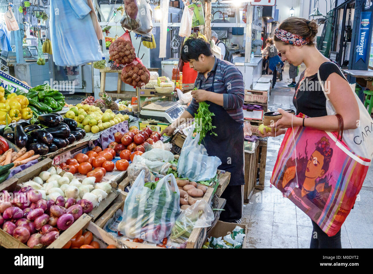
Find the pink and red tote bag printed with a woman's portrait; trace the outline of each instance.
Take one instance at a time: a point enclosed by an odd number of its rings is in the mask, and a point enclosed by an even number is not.
[[[323,232],[333,236],[350,213],[369,164],[369,159],[354,154],[337,140],[335,133],[290,127],[270,182]]]

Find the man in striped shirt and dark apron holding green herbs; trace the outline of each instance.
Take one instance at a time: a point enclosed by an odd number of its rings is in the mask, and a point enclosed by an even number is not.
[[[210,44],[201,38],[188,38],[181,50],[181,59],[198,72],[192,91],[192,102],[184,113],[163,130],[171,135],[176,127],[190,120],[197,113],[199,102],[206,101],[212,117],[213,131],[217,136],[206,134],[202,144],[209,156],[222,161],[220,170],[229,171],[231,180],[224,190],[225,211],[220,220],[241,223],[244,180],[244,81],[242,73],[231,63],[213,56]]]

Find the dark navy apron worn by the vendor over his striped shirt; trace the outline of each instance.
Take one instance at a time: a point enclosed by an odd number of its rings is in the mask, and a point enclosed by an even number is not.
[[[206,91],[214,92],[215,71],[211,88]],[[202,80],[200,80],[200,87]],[[244,126],[233,120],[228,112],[221,106],[210,101],[209,110],[215,114],[212,116],[212,125],[216,126],[214,136],[208,132],[203,138],[202,144],[209,156],[216,156],[222,161],[218,167],[231,173],[229,186],[245,185],[244,178]]]

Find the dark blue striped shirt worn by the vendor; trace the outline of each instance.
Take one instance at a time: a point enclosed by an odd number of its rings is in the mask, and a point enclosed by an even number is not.
[[[236,122],[243,123],[244,113],[242,112],[242,105],[244,104],[245,94],[244,79],[242,73],[235,65],[215,57],[214,67],[207,73],[207,79],[205,79],[204,73],[198,73],[194,86],[204,90],[211,88],[214,71],[216,72],[214,92],[223,94],[223,108],[228,112],[229,116]],[[186,108],[186,111],[194,117],[194,114],[197,113],[198,106],[199,104],[192,98],[192,102],[188,108]]]

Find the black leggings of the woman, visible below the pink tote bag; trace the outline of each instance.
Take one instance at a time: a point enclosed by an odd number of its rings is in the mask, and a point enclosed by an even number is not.
[[[312,226],[313,231],[310,248],[342,248],[341,230],[334,236],[329,237],[314,221],[312,221]]]

